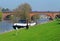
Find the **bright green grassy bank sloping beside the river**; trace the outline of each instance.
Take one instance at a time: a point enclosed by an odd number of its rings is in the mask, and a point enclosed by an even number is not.
[[[60,41],[60,24],[56,21],[0,34],[0,41]]]

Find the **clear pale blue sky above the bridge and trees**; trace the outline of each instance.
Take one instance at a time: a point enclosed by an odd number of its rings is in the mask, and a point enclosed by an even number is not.
[[[60,0],[0,0],[0,7],[12,10],[22,3],[30,4],[33,11],[60,11]]]

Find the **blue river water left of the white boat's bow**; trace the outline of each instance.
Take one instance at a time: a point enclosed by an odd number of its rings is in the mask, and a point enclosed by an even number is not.
[[[13,26],[13,24],[8,21],[1,21],[0,22],[0,33],[13,30],[12,26]]]

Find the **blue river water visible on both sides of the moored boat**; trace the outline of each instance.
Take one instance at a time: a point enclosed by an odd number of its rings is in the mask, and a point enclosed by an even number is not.
[[[44,23],[44,22],[47,22],[49,21],[49,19],[39,19],[37,20],[37,23],[38,24],[41,24],[41,23]],[[4,32],[7,32],[7,31],[10,31],[10,30],[13,30],[13,24],[9,21],[1,21],[0,22],[0,33],[4,33]]]

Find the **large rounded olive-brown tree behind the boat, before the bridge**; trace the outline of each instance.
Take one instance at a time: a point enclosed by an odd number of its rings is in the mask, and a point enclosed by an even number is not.
[[[14,16],[18,19],[29,19],[29,13],[31,12],[31,6],[28,3],[21,4],[14,10]]]

